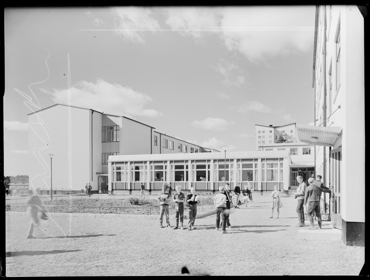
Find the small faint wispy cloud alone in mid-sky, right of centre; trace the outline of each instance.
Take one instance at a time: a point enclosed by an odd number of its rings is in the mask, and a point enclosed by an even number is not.
[[[211,66],[224,77],[225,86],[240,86],[245,83],[245,77],[240,67],[229,61],[221,61],[217,66]]]

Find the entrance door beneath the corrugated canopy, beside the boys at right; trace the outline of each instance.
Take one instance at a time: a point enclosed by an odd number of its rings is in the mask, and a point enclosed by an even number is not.
[[[330,151],[330,185],[333,187],[332,192],[332,226],[342,229],[342,205],[341,205],[341,185],[340,170],[342,168],[342,148]]]

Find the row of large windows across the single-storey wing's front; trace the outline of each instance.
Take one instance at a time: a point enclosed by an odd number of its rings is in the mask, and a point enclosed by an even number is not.
[[[252,162],[247,162],[252,161]],[[283,161],[282,158],[261,159],[261,175],[262,181],[283,181]],[[253,162],[254,161],[254,162]],[[236,180],[238,182],[254,182],[258,181],[258,159],[242,159],[237,160],[236,164],[233,160],[218,160],[213,162],[213,181],[234,181],[234,167],[236,165]],[[268,163],[270,161],[270,163]],[[280,161],[275,162],[275,161]],[[169,170],[169,178],[167,177],[167,162],[150,163],[148,166],[141,163],[132,163],[131,166],[131,181],[144,182],[148,176],[151,182],[184,182],[189,181],[189,171],[192,174],[192,182],[210,182],[211,181],[211,160],[192,160],[180,161],[181,164],[171,161]],[[191,168],[191,170],[189,170]],[[128,162],[115,163],[112,165],[112,181],[113,182],[128,182]]]

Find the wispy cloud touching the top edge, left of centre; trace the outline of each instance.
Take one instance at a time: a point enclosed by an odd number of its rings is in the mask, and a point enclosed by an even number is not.
[[[126,40],[144,43],[143,31],[160,29],[158,21],[151,16],[151,8],[116,7],[112,14],[116,23],[117,33]]]

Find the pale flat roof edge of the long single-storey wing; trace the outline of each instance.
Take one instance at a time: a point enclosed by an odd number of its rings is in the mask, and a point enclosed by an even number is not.
[[[238,151],[226,152],[229,158],[289,158],[288,151]],[[154,161],[154,160],[201,160],[201,159],[224,159],[225,153],[176,153],[176,154],[137,154],[109,156],[108,162],[112,161]]]

